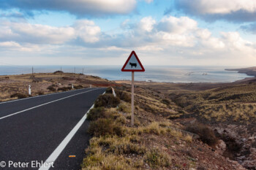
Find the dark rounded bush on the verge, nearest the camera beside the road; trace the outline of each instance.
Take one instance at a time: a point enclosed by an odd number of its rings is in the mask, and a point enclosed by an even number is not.
[[[124,130],[121,126],[116,125],[113,120],[105,118],[99,118],[98,120],[91,122],[88,132],[94,136],[124,135]]]

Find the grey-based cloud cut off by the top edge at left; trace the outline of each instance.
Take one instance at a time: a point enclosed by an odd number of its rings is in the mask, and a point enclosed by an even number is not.
[[[136,7],[136,0],[2,0],[0,9],[20,9],[29,15],[34,11],[64,11],[78,17],[124,15]]]

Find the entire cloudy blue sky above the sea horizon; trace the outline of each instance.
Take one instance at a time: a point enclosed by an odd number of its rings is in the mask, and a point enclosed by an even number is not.
[[[255,0],[1,0],[0,65],[255,66]]]

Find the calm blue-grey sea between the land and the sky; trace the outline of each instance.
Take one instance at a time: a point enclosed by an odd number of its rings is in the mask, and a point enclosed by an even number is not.
[[[135,80],[154,82],[234,82],[246,74],[239,74],[230,66],[144,66],[146,72],[135,72]],[[0,66],[0,75],[28,74],[32,66]],[[237,67],[236,67],[237,68]],[[236,69],[235,68],[235,69]],[[130,72],[121,72],[121,66],[33,66],[35,73],[63,72],[84,73],[108,80],[131,80]]]

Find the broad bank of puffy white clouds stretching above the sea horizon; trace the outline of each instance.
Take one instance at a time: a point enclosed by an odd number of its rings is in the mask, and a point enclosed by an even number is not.
[[[91,56],[95,62],[99,58],[102,62],[108,61],[104,58],[118,58],[119,62],[131,50],[151,58],[146,64],[256,62],[256,43],[243,39],[238,32],[214,36],[192,18],[174,16],[159,20],[147,16],[135,23],[125,20],[121,31],[111,34],[102,31],[92,20],[77,20],[66,27],[2,21],[0,49],[0,56],[20,51],[18,56],[82,58],[78,61]],[[220,60],[223,63],[218,63]]]

